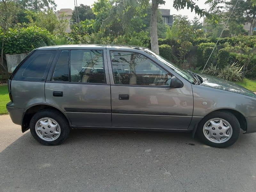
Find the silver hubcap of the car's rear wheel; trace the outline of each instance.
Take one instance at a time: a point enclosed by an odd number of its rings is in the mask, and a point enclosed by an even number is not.
[[[54,141],[60,136],[60,125],[56,120],[49,117],[39,119],[35,129],[38,137],[45,141]]]

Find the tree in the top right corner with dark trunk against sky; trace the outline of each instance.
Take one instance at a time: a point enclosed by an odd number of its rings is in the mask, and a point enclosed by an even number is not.
[[[226,2],[229,12],[233,10],[237,0]],[[237,24],[250,23],[249,35],[252,35],[252,29],[256,24],[256,6],[252,0],[238,0],[233,16],[230,21],[235,21]]]

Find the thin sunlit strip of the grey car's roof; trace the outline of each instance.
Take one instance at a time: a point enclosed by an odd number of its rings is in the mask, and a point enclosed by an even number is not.
[[[70,44],[70,45],[53,45],[53,46],[45,46],[39,47],[38,50],[53,50],[53,49],[83,49],[83,48],[115,48],[115,49],[137,49],[144,50],[147,49],[145,47],[133,46],[133,45],[115,45],[115,44]]]

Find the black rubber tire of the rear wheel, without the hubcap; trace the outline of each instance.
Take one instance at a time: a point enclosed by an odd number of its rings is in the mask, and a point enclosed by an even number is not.
[[[53,140],[53,141],[45,141],[43,139],[41,139],[37,134],[36,134],[36,122],[44,117],[49,117],[54,119],[59,125],[60,125],[60,136],[58,137],[58,139]],[[32,136],[41,144],[43,145],[59,145],[60,143],[62,143],[64,140],[66,140],[68,138],[69,132],[70,132],[70,127],[69,127],[69,123],[67,118],[60,113],[57,110],[53,110],[53,109],[43,109],[38,111],[30,120],[30,124],[29,124],[29,129],[30,132],[32,134]]]

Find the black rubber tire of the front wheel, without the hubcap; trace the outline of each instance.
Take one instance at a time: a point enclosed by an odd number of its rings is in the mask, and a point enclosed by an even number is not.
[[[204,124],[213,118],[221,118],[226,120],[232,127],[232,136],[229,140],[227,140],[224,143],[214,143],[210,140],[208,140],[205,136],[204,136],[204,132],[203,132],[203,127]],[[222,133],[221,133],[222,134]],[[217,148],[225,148],[228,146],[233,145],[236,140],[238,139],[239,135],[240,135],[240,123],[237,120],[236,116],[234,116],[232,113],[228,112],[228,111],[215,111],[210,113],[209,115],[205,116],[200,123],[198,124],[197,130],[196,130],[196,135],[198,137],[198,139],[200,141],[202,141],[204,144],[209,145],[211,147],[217,147]]]

